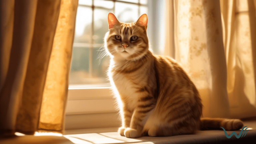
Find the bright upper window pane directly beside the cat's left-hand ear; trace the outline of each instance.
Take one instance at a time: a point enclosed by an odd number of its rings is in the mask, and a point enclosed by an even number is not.
[[[104,43],[104,36],[108,32],[108,13],[113,10],[94,9],[94,35],[93,40],[97,44]]]

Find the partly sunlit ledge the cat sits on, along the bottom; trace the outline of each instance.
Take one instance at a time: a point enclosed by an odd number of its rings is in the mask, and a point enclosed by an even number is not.
[[[177,135],[171,137],[141,137],[136,139],[120,136],[116,131],[117,127],[67,130],[63,136],[16,136],[1,137],[1,144],[113,144],[113,143],[136,143],[136,144],[156,144],[156,143],[251,143],[256,139],[256,118],[244,119],[244,125],[252,128],[246,136],[237,139],[235,136],[227,138],[222,130],[199,131],[192,135]],[[237,135],[240,131],[235,131]],[[227,131],[228,135],[232,131]]]

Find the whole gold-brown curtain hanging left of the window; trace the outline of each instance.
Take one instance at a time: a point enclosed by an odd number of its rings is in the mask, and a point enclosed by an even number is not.
[[[0,131],[62,133],[78,0],[0,4]]]

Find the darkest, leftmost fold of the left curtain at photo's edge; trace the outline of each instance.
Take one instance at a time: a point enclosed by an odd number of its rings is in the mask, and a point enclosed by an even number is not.
[[[1,82],[3,83],[3,86],[0,92],[0,125],[1,130],[14,132],[17,113],[19,106],[21,105],[23,84],[34,32],[37,0],[15,1],[6,4],[8,4],[7,8],[10,9],[5,10],[7,13],[14,14],[14,17],[8,17],[6,19],[7,21],[3,22],[7,25],[10,24],[10,26],[13,25],[13,34],[12,38],[5,38],[6,41],[11,42],[11,47],[8,47],[8,45],[4,45],[6,47],[1,47],[1,51],[10,52],[10,54],[1,53],[1,57],[5,54],[10,55],[10,57],[9,60],[4,61],[4,63],[9,61],[9,63],[5,64],[8,65],[8,67],[3,65],[5,66],[4,69],[8,68],[8,70],[6,77],[3,79],[4,81]],[[11,8],[13,5],[11,4],[14,4],[13,9]],[[5,15],[5,13],[2,13],[1,15],[3,15],[3,17],[8,16]],[[13,18],[13,20],[11,18]],[[5,29],[5,27],[1,28]],[[11,32],[11,30],[8,31],[8,33]],[[5,34],[10,36],[11,34],[8,33]],[[5,37],[5,35],[1,35],[1,37]]]

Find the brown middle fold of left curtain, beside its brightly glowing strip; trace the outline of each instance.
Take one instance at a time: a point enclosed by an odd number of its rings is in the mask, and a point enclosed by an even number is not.
[[[37,131],[53,38],[60,13],[60,2],[61,0],[38,0],[22,105],[16,120],[17,131],[26,132],[26,134]]]

